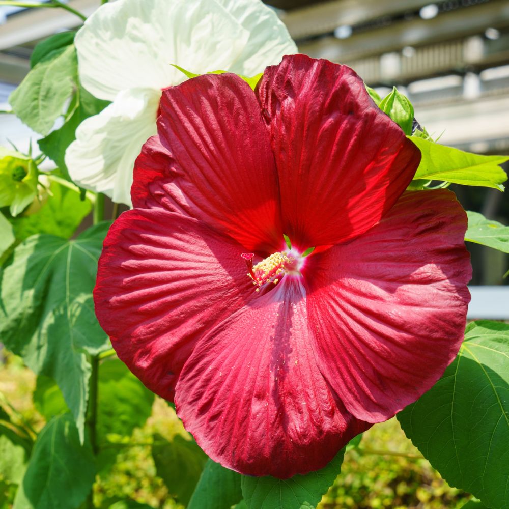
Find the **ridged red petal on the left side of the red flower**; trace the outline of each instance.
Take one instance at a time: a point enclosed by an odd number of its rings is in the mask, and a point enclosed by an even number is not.
[[[123,213],[110,228],[94,290],[99,323],[151,390],[173,399],[197,340],[253,297],[242,247],[163,210]]]

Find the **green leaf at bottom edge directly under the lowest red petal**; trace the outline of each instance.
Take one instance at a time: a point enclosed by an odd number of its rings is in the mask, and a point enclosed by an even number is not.
[[[242,493],[249,509],[314,509],[341,472],[345,449],[321,470],[290,479],[242,476]]]

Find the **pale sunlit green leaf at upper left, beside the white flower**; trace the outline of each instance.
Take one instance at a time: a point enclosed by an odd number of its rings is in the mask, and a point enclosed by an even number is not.
[[[73,45],[51,51],[9,96],[14,113],[34,131],[46,135],[63,113],[75,88],[76,73]]]

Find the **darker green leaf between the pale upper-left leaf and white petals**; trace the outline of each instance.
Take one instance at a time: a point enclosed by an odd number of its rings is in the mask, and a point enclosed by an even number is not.
[[[76,139],[76,129],[83,120],[97,115],[108,104],[109,101],[96,99],[87,92],[81,85],[76,94],[77,105],[72,115],[66,120],[60,129],[49,133],[45,138],[37,143],[39,148],[46,154],[61,170],[66,179],[70,180],[69,172],[65,164],[65,151],[69,145]]]

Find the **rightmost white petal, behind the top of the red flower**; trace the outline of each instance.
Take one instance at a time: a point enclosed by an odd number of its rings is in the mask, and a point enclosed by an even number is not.
[[[229,71],[254,76],[284,55],[297,53],[285,24],[261,0],[215,0],[249,32],[249,39]]]

